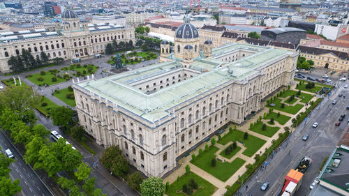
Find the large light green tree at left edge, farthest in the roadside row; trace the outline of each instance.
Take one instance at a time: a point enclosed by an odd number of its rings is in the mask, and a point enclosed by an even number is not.
[[[12,111],[24,114],[26,110],[34,109],[39,97],[38,93],[34,92],[29,86],[10,85],[0,91],[0,100],[0,105],[3,108],[8,107]]]

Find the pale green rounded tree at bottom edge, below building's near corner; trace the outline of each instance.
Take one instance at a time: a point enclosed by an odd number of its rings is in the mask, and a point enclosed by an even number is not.
[[[140,193],[142,196],[163,196],[165,193],[163,179],[155,176],[145,179],[140,185]]]

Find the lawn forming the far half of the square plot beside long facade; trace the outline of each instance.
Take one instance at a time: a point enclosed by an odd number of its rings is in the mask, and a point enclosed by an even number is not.
[[[242,132],[241,130],[232,130],[231,133],[225,134],[221,138],[221,140],[218,140],[218,143],[225,145],[225,144],[228,144],[228,142],[230,141],[244,142],[244,146],[246,147],[246,150],[242,152],[242,154],[248,157],[252,157],[255,154],[255,152],[258,151],[260,147],[262,147],[265,144],[265,140],[262,140],[253,135],[248,135],[247,140],[244,140],[244,132]]]

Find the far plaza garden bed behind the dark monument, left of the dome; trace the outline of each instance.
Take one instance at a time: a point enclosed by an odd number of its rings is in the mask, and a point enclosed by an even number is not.
[[[128,54],[124,53],[120,55],[123,64],[133,65],[140,63],[142,61],[149,61],[151,59],[158,58],[158,55],[154,52],[130,52]],[[115,64],[115,56],[112,56],[107,63],[112,65]]]

